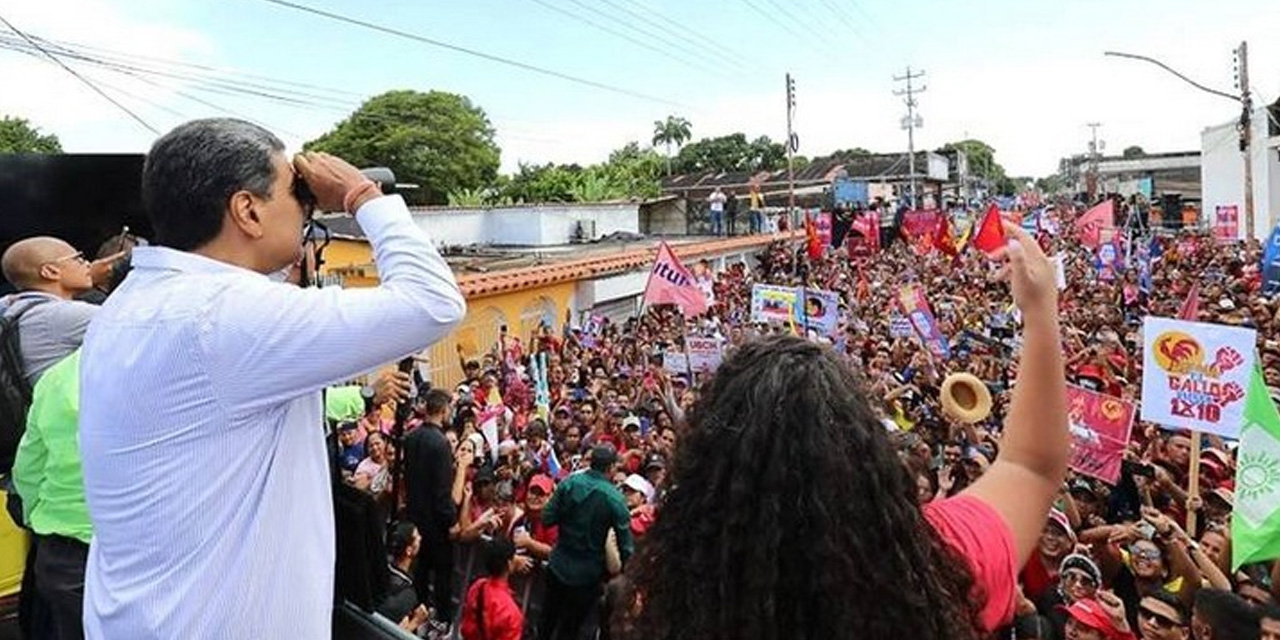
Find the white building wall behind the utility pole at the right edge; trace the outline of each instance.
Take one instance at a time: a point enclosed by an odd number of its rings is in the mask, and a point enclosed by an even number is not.
[[[1253,212],[1252,233],[1245,228],[1244,156],[1235,123],[1210,127],[1201,133],[1201,183],[1203,211],[1212,219],[1217,206],[1238,206],[1240,237],[1266,239],[1280,216],[1280,138],[1267,138],[1266,113],[1253,118]]]

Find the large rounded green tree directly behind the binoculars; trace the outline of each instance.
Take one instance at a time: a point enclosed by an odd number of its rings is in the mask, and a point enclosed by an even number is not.
[[[500,151],[484,110],[443,91],[388,91],[369,99],[305,148],[328,151],[357,166],[379,165],[416,183],[407,198],[443,205],[449,193],[493,184]]]

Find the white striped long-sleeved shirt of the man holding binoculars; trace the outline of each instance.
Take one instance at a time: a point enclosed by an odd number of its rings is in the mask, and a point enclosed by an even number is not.
[[[301,289],[133,251],[81,364],[87,637],[330,637],[320,390],[422,349],[466,312],[399,196],[356,218],[378,288]]]

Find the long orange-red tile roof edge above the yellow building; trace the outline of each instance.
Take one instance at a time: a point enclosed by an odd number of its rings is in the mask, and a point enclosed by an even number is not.
[[[790,234],[776,236],[744,236],[741,238],[727,238],[691,244],[673,244],[671,248],[681,259],[696,259],[716,253],[760,248],[776,239],[795,239],[799,237],[803,237],[803,233],[792,232]],[[462,294],[466,296],[467,300],[483,298],[486,296],[495,296],[498,293],[511,293],[563,282],[575,282],[632,271],[636,268],[652,262],[657,252],[658,247],[650,247],[626,251],[612,256],[554,262],[534,268],[509,269],[486,274],[465,274],[458,276],[458,287],[462,288]]]

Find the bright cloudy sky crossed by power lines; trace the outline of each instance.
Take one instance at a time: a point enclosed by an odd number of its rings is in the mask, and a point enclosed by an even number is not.
[[[294,0],[289,0],[291,3]],[[797,84],[801,154],[902,151],[893,76],[924,69],[919,146],[974,137],[1010,173],[1044,175],[1100,122],[1108,151],[1199,147],[1238,115],[1156,67],[1233,92],[1233,49],[1280,96],[1275,0],[296,0],[608,88],[308,14],[268,0],[0,0],[28,36],[151,128],[189,118],[260,122],[292,147],[393,88],[470,96],[490,115],[503,168],[591,163],[653,134],[668,114],[694,136],[785,136],[783,74]],[[143,151],[155,137],[0,27],[0,114],[68,151]],[[64,50],[65,51],[65,50]],[[215,70],[216,69],[216,70]],[[246,91],[259,95],[246,95]]]

